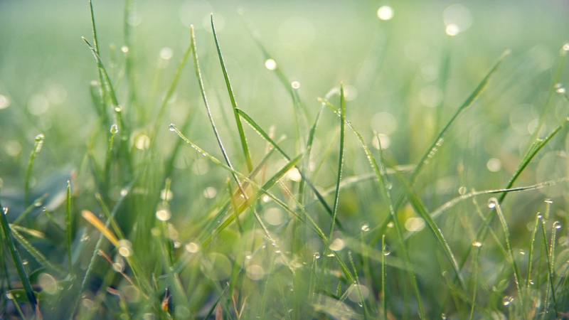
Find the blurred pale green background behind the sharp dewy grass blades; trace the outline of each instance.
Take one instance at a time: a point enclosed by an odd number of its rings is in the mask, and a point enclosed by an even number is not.
[[[295,137],[292,100],[275,72],[268,70],[265,55],[245,25],[252,28],[302,98],[308,110],[308,118],[301,119],[303,139],[321,108],[317,97],[329,97],[337,104],[343,83],[346,119],[368,146],[377,148],[373,132],[379,132],[386,157],[400,165],[419,161],[491,65],[504,50],[511,50],[477,102],[453,124],[445,143],[413,186],[430,210],[459,193],[506,186],[532,135],[543,137],[569,114],[567,100],[553,95],[543,127],[536,133],[548,92],[555,90],[551,82],[555,63],[569,39],[567,1],[191,0],[133,4],[134,11],[127,16],[132,46],[125,48],[124,3],[93,2],[100,55],[132,129],[134,158],[140,155],[142,159],[148,148],[154,114],[189,45],[189,26],[193,24],[213,119],[235,167],[245,169],[209,26],[211,12],[238,106],[266,131],[274,127],[275,137],[286,135],[282,147],[289,155],[304,148]],[[381,6],[390,6],[393,17],[378,18]],[[9,201],[11,212],[23,209],[17,199],[37,134],[46,136],[33,166],[32,185],[37,195],[63,193],[70,172],[85,164],[90,142],[97,152],[94,158],[101,163],[104,160],[109,132],[100,131],[97,123],[90,97],[90,84],[98,80],[97,68],[82,36],[92,43],[87,1],[0,0],[0,184],[3,202]],[[134,62],[132,78],[125,74],[126,55]],[[566,71],[562,69],[560,83],[568,81]],[[129,86],[135,100],[129,97]],[[556,89],[565,93],[563,85]],[[182,127],[186,115],[192,113],[184,134],[221,159],[201,99],[188,61],[156,137],[164,155],[170,154],[179,139],[169,132],[169,124]],[[319,168],[312,181],[321,190],[336,182],[338,119],[324,110],[312,148],[309,168]],[[245,129],[257,163],[266,143],[250,128]],[[560,132],[533,159],[516,186],[568,176],[567,137]],[[157,167],[163,164],[161,155],[152,155]],[[351,132],[346,134],[345,157],[345,178],[371,172]],[[283,164],[275,159],[270,161],[273,171]],[[209,209],[204,208],[216,208],[215,202],[223,200],[216,199],[216,194],[226,193],[227,172],[185,147],[174,166],[172,219],[187,222],[188,212],[191,219],[206,217]],[[84,171],[74,190],[85,195],[78,200],[78,208],[92,208],[95,178],[88,166]],[[163,186],[163,181],[151,182]],[[116,200],[123,187],[115,186],[108,196]],[[553,198],[552,215],[566,226],[567,191],[562,184],[507,198],[506,216],[514,241],[519,241],[516,247],[527,247],[528,228],[536,211],[543,208],[544,198]],[[57,201],[63,199],[55,198],[51,200],[57,208]],[[331,196],[327,199],[331,202]],[[401,208],[402,220],[415,216],[410,206]],[[151,218],[154,209],[148,209]],[[364,221],[372,228],[383,223],[387,215],[376,184],[366,181],[342,190],[339,218],[346,222],[346,236],[358,235]],[[465,237],[468,228],[462,225],[463,229],[460,223],[452,216],[440,224],[453,249],[459,244],[469,247],[472,241],[472,234]],[[405,223],[405,227],[418,231],[412,223]],[[180,238],[186,241],[196,234],[197,230],[188,227]],[[432,255],[413,245],[430,243],[434,247],[429,237],[422,233],[411,240],[412,257],[418,265],[435,264]],[[567,236],[563,243],[569,244]],[[497,251],[490,257],[499,256]],[[486,270],[492,270],[494,263],[492,259],[481,262]],[[429,270],[435,273],[432,270],[438,269]],[[486,275],[494,279],[492,274]],[[445,285],[429,281],[425,279],[430,288]]]

